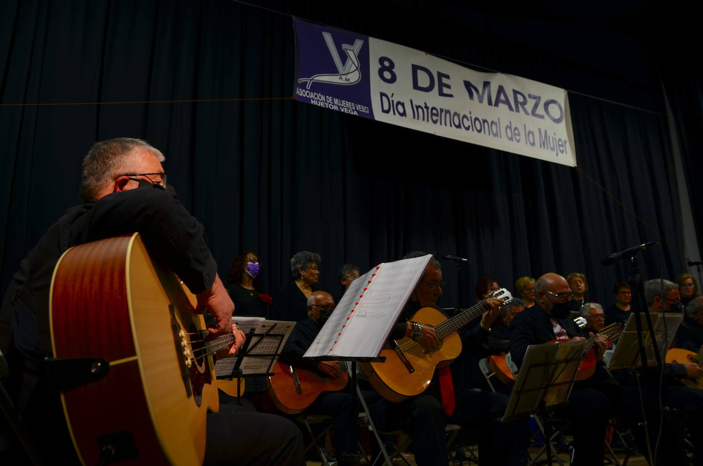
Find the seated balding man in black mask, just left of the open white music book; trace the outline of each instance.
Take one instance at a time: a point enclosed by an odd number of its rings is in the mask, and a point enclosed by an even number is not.
[[[337,363],[331,361],[318,363],[303,358],[320,329],[335,310],[335,301],[327,291],[313,291],[307,302],[309,317],[302,322],[297,322],[278,360],[293,367],[315,370],[330,379],[341,379],[346,370]],[[340,466],[354,464],[356,443],[352,429],[356,429],[356,416],[352,415],[352,395],[347,391],[322,393],[307,409],[312,414],[334,417],[335,457]]]

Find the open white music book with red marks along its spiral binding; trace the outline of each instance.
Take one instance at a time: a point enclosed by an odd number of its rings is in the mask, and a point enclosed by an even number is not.
[[[381,263],[349,285],[306,358],[377,358],[432,254]]]

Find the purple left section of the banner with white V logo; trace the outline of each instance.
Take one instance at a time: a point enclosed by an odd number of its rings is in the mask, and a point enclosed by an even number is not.
[[[295,99],[373,119],[368,37],[293,18]]]

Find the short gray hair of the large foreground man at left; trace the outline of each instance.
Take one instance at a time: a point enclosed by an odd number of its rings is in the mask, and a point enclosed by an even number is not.
[[[98,194],[111,180],[129,172],[131,155],[134,149],[144,149],[163,162],[166,160],[159,149],[141,139],[116,137],[93,144],[83,159],[83,178],[80,198],[84,203],[95,202]]]

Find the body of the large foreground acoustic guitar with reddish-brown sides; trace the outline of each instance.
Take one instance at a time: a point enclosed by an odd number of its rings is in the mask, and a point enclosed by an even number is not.
[[[115,448],[108,463],[202,463],[205,415],[219,405],[212,358],[193,358],[205,329],[193,302],[172,272],[152,263],[138,234],[60,258],[50,297],[53,355],[110,365],[101,379],[61,394],[84,464],[101,462],[106,445]]]

